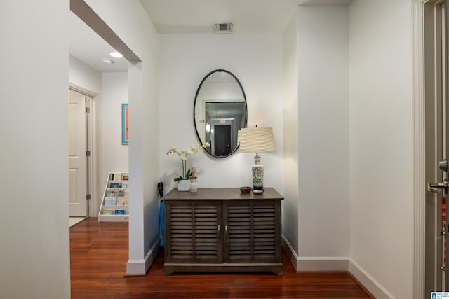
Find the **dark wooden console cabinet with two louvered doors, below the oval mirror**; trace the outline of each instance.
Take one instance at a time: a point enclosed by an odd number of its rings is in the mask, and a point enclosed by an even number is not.
[[[170,191],[165,205],[164,272],[274,272],[282,274],[281,200],[239,188]]]

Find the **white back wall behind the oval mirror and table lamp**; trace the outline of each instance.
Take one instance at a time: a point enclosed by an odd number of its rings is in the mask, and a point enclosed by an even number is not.
[[[168,192],[175,187],[181,163],[166,155],[176,146],[196,141],[193,110],[196,89],[214,69],[231,71],[243,86],[248,103],[248,127],[273,127],[275,153],[262,153],[264,186],[283,193],[283,85],[281,34],[161,34],[160,160],[161,180]],[[199,188],[252,186],[252,153],[229,158],[189,155],[187,167],[197,169]]]

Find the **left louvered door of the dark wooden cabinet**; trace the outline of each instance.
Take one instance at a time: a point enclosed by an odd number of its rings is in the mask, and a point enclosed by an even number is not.
[[[221,263],[220,202],[166,202],[167,263]]]

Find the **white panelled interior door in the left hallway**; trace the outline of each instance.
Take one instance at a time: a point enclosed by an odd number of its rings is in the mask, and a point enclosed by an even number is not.
[[[69,216],[87,216],[86,96],[69,90]]]

